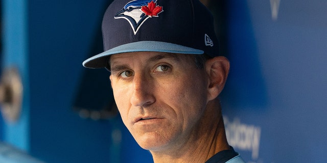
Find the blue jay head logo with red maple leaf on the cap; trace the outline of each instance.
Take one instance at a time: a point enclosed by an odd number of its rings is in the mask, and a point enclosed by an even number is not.
[[[162,11],[162,6],[157,5],[157,0],[134,0],[127,3],[114,18],[124,18],[132,26],[134,35],[142,24],[151,17],[158,17]]]

